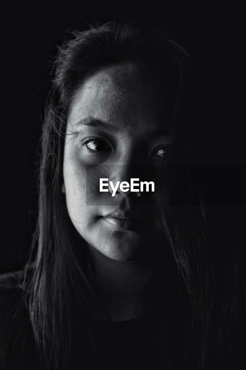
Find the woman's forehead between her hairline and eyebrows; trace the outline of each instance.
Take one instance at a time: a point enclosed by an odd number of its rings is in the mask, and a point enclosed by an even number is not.
[[[87,77],[68,110],[68,127],[93,117],[119,128],[142,128],[167,122],[165,84],[139,63],[110,65]]]

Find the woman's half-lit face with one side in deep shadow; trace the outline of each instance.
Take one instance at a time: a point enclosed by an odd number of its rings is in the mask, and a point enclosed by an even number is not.
[[[68,110],[64,185],[69,217],[82,238],[109,258],[153,255],[163,243],[158,169],[171,143],[165,85],[137,63],[110,65],[86,78]],[[100,191],[139,178],[154,192]],[[140,186],[135,186],[135,189]]]

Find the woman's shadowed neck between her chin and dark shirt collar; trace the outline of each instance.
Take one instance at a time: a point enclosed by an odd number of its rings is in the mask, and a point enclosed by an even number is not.
[[[118,261],[89,246],[90,277],[111,321],[130,320],[148,311],[147,286],[155,272],[153,262]],[[94,316],[101,319],[99,313]]]

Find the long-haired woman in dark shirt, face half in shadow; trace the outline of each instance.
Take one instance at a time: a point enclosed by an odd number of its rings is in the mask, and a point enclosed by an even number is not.
[[[240,265],[223,285],[189,166],[195,86],[162,31],[115,21],[59,48],[33,248],[2,278],[6,369],[238,368]]]

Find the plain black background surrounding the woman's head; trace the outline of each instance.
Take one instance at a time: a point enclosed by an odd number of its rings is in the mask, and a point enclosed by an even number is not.
[[[2,247],[1,271],[23,266],[34,228],[30,220],[37,195],[33,190],[35,153],[40,136],[40,122],[50,83],[50,61],[56,54],[67,28],[85,23],[110,20],[115,14],[135,20],[162,24],[172,31],[192,55],[200,68],[204,97],[208,101],[207,194],[209,212],[216,227],[243,251],[245,244],[244,198],[244,59],[240,13],[233,7],[154,6],[97,4],[78,6],[67,3],[56,9],[44,4],[19,7],[5,13],[6,26],[2,41],[2,80],[6,103],[2,112]],[[211,159],[212,158],[212,159]],[[213,169],[211,170],[211,166]]]

